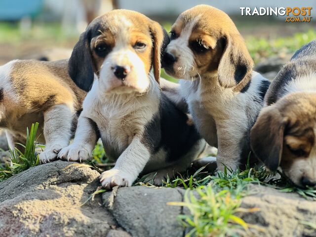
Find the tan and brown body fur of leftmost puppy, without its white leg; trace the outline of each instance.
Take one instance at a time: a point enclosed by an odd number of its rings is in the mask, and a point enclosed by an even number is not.
[[[43,112],[62,104],[80,110],[85,92],[76,86],[67,70],[68,60],[14,62],[7,82],[11,84],[12,93],[3,93],[5,117],[1,119],[1,126],[25,135],[27,126],[39,122],[39,134],[43,135]],[[39,142],[44,143],[42,136]]]

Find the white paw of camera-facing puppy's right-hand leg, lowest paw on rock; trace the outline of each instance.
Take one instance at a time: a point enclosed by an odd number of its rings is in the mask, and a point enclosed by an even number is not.
[[[119,169],[110,169],[100,175],[100,183],[105,189],[112,189],[114,186],[131,186],[135,178]]]

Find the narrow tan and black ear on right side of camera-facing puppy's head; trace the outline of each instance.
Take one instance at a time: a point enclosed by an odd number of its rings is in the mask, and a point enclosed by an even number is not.
[[[159,83],[160,79],[160,70],[161,70],[161,58],[164,49],[169,43],[170,39],[168,33],[162,28],[162,26],[153,21],[150,26],[150,31],[153,38],[153,67],[154,67],[154,77],[156,81]]]

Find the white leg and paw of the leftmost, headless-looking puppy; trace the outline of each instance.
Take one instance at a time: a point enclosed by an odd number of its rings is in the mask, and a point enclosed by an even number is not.
[[[57,159],[60,150],[69,144],[74,111],[66,104],[55,105],[44,112],[45,150],[40,154],[40,162]]]

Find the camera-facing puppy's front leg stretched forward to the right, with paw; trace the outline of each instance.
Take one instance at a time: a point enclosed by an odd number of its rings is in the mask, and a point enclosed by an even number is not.
[[[100,182],[106,189],[114,186],[131,186],[150,159],[149,149],[135,136],[126,150],[119,156],[115,166],[103,172]]]

